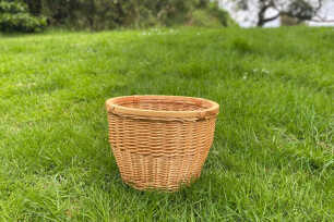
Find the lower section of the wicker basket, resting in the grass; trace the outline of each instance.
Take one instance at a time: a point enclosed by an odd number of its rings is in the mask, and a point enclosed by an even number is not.
[[[116,155],[116,161],[122,181],[130,186],[140,190],[177,190],[201,175],[207,152],[181,157],[143,156],[128,150],[114,153],[120,153]]]

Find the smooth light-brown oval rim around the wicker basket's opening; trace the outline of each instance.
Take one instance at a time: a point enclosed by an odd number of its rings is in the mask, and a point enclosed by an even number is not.
[[[141,99],[146,100],[168,100],[179,102],[191,102],[196,106],[203,104],[207,108],[203,110],[193,111],[165,111],[165,110],[148,110],[139,108],[129,108],[119,104],[121,101],[133,101],[139,102]],[[198,98],[198,97],[186,97],[186,96],[164,96],[164,95],[133,95],[133,96],[121,96],[107,99],[106,109],[108,112],[120,115],[138,115],[142,118],[166,118],[166,119],[207,119],[216,116],[219,112],[219,104],[215,101]]]

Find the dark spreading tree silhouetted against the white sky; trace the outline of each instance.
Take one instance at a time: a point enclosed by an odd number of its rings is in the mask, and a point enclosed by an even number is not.
[[[258,9],[257,26],[262,27],[265,23],[276,20],[279,16],[290,16],[297,18],[298,23],[303,21],[332,22],[319,12],[325,0],[235,0],[239,10]],[[267,12],[275,11],[269,16]]]

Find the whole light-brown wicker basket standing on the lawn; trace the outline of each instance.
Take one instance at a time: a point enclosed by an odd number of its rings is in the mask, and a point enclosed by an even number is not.
[[[109,141],[123,182],[176,190],[199,177],[213,141],[216,102],[178,96],[106,101]]]

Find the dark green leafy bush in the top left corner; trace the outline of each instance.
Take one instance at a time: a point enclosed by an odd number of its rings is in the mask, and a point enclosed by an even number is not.
[[[46,26],[46,18],[32,16],[24,3],[0,1],[0,32],[34,33]]]

